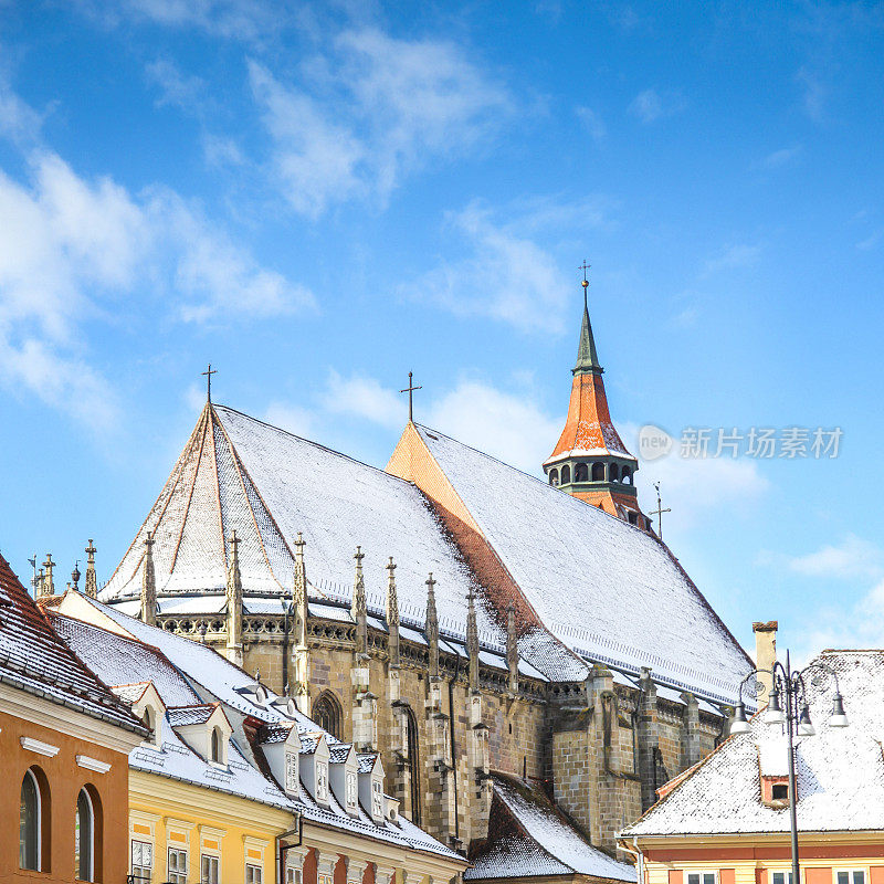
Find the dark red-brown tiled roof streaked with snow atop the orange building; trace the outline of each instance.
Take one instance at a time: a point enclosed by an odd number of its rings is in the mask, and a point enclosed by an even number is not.
[[[141,722],[52,630],[2,556],[0,681],[91,718],[136,734],[147,733]]]

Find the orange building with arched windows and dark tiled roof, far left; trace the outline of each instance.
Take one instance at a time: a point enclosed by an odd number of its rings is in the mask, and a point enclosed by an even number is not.
[[[0,884],[124,884],[128,754],[146,734],[0,557]]]

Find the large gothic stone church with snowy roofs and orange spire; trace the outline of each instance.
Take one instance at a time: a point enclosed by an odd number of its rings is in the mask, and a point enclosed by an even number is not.
[[[98,598],[380,751],[466,878],[633,881],[615,833],[753,664],[639,507],[586,304],[543,467],[409,421],[380,471],[209,401]]]

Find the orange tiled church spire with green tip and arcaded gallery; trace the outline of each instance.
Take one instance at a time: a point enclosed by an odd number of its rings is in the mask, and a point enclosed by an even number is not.
[[[599,364],[589,322],[586,276],[582,285],[583,323],[577,362],[571,370],[568,418],[556,448],[544,462],[544,471],[550,485],[645,527],[648,520],[639,509],[632,484],[639,462],[627,450],[611,420],[602,380],[604,369]]]

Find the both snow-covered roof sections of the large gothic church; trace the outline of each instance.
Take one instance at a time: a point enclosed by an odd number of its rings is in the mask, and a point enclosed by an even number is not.
[[[733,701],[749,661],[665,546],[441,433],[414,424],[408,432],[420,434],[517,583],[517,607],[534,612],[519,638],[525,660],[564,681],[585,678],[585,661],[632,673],[649,666],[672,686]],[[278,612],[301,533],[312,602],[349,596],[360,546],[370,610],[383,610],[392,556],[403,623],[423,624],[432,571],[443,634],[464,633],[472,586],[481,636],[504,645],[499,599],[483,590],[444,514],[408,478],[207,404],[99,598],[133,607],[125,602],[138,598],[151,533],[160,613],[217,614],[235,530],[246,609]]]

